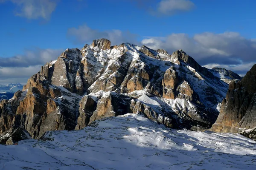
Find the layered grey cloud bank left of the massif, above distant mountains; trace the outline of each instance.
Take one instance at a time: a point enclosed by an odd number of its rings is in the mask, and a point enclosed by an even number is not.
[[[23,55],[0,57],[0,84],[10,82],[26,83],[27,79],[40,71],[46,62],[57,59],[63,49],[26,50]]]

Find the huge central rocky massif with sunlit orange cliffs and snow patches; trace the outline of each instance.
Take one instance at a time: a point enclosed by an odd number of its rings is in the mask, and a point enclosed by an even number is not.
[[[34,139],[78,130],[96,119],[144,114],[173,128],[202,130],[217,119],[227,84],[184,51],[172,55],[130,43],[94,40],[67,49],[0,103],[0,133],[20,128]]]

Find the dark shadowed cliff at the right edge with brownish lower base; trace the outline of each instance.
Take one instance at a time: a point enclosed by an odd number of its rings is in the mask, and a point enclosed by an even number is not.
[[[253,65],[241,81],[230,82],[226,99],[222,101],[218,119],[212,125],[213,131],[235,132],[250,136],[248,129],[256,127],[255,82],[256,65]],[[244,130],[247,131],[244,132]]]

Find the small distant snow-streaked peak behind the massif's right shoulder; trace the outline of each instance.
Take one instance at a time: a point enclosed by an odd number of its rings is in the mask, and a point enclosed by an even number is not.
[[[209,69],[209,71],[212,72],[216,77],[220,78],[222,81],[226,82],[229,84],[233,80],[241,80],[242,77],[240,77],[238,74],[234,73],[231,70],[226,70],[225,68],[218,68],[214,67],[212,69]]]

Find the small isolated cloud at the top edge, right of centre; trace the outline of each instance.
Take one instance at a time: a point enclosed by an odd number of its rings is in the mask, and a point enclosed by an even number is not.
[[[161,0],[158,4],[157,13],[173,15],[177,12],[189,11],[195,7],[190,0]]]

